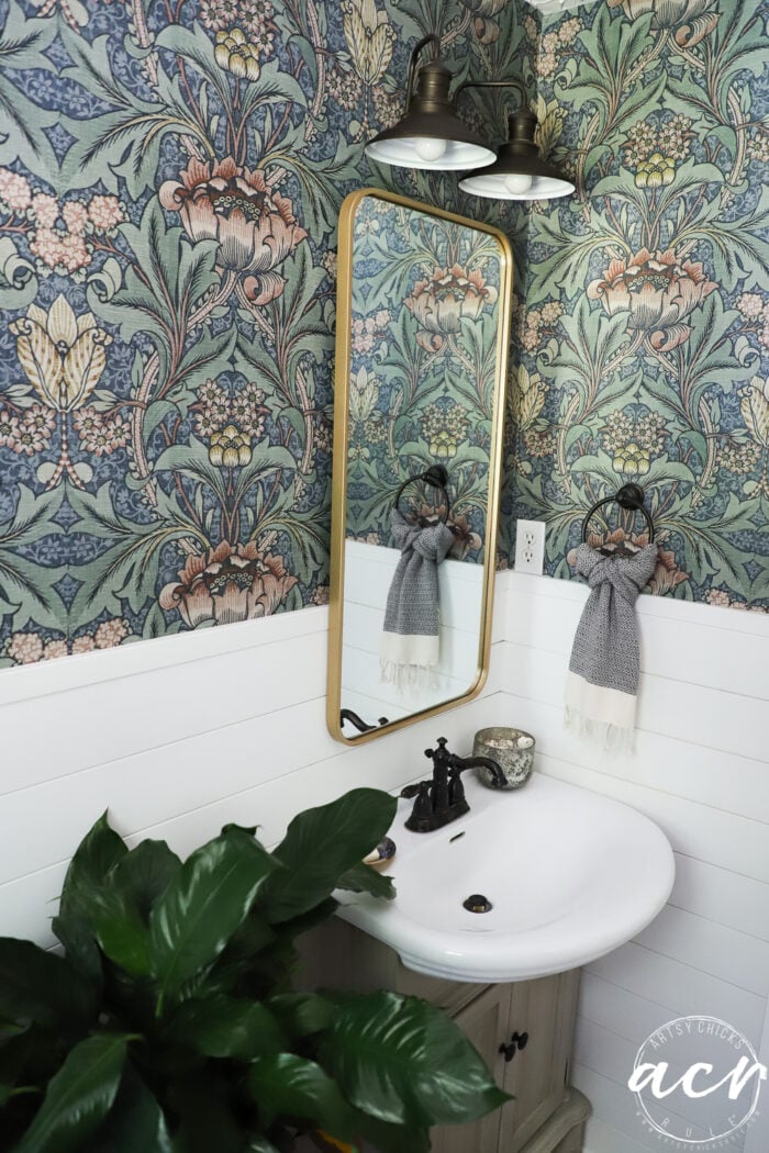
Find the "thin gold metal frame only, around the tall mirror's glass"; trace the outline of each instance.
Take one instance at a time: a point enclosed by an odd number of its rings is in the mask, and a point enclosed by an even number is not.
[[[489,455],[489,502],[485,519],[485,553],[483,560],[481,630],[476,677],[469,689],[459,696],[399,717],[386,725],[345,737],[340,725],[341,672],[344,642],[344,589],[345,589],[345,541],[347,529],[347,464],[349,452],[349,375],[353,306],[353,234],[355,213],[367,196],[375,196],[391,204],[402,205],[427,216],[450,220],[476,232],[493,236],[499,246],[500,308],[497,336],[497,378],[493,390],[493,422]],[[497,559],[497,525],[499,517],[499,491],[503,439],[505,431],[505,385],[510,351],[511,309],[513,288],[513,253],[503,232],[490,225],[436,209],[420,201],[408,199],[379,188],[362,188],[345,198],[339,214],[339,248],[337,280],[337,347],[334,367],[334,424],[333,424],[333,472],[331,485],[331,586],[329,596],[329,660],[326,678],[326,724],[331,736],[344,745],[357,747],[376,737],[395,732],[406,725],[457,708],[472,701],[483,689],[489,673],[489,650],[491,647],[491,618],[493,610],[493,583]]]

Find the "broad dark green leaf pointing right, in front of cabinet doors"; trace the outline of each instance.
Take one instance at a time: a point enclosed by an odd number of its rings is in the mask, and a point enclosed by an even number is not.
[[[392,1124],[475,1121],[510,1100],[445,1013],[395,993],[348,998],[319,1060],[359,1109]]]

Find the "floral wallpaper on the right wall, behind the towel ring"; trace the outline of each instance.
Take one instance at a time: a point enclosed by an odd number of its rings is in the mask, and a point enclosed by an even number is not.
[[[578,194],[529,217],[505,510],[511,532],[548,521],[553,575],[635,481],[651,591],[769,609],[768,20],[767,0],[601,0],[525,22]],[[644,541],[604,511],[595,537]]]

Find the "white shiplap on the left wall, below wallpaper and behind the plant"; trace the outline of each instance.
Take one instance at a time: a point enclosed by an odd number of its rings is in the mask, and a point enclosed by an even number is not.
[[[181,853],[227,821],[259,824],[272,845],[299,809],[359,785],[395,789],[424,774],[439,733],[467,745],[493,723],[500,640],[476,701],[360,749],[338,744],[326,635],[327,610],[306,609],[3,671],[0,934],[53,941],[67,861],[105,808],[130,841],[163,837]]]

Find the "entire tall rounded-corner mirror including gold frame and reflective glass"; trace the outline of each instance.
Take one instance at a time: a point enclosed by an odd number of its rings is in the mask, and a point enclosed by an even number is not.
[[[379,189],[339,220],[326,719],[362,744],[489,664],[513,257]]]

